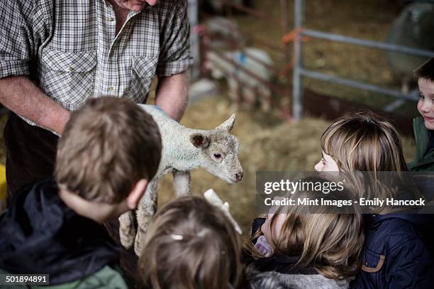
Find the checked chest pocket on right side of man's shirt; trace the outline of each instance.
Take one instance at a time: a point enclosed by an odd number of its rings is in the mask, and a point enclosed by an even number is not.
[[[133,59],[131,83],[128,97],[137,103],[145,103],[152,77],[157,70],[158,58],[152,56],[140,56]]]

